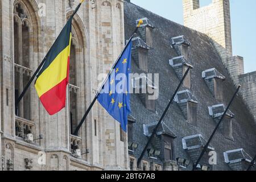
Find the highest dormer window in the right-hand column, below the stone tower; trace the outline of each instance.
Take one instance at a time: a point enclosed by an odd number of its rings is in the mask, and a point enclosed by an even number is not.
[[[213,96],[217,100],[223,101],[223,81],[225,80],[225,76],[218,72],[217,69],[212,68],[203,71],[202,77],[204,78]]]

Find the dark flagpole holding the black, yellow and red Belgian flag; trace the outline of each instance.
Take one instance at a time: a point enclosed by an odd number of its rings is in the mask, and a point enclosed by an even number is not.
[[[73,11],[71,18],[73,18],[73,16],[77,13],[77,11],[79,10],[80,6],[82,5],[82,2],[84,2],[84,0],[81,0],[79,5],[76,7],[75,11]],[[53,46],[49,49],[48,53],[51,51],[51,49],[53,48]],[[31,83],[33,82],[33,80],[35,79],[36,75],[38,75],[38,72],[40,71],[40,69],[43,67],[44,63],[46,62],[46,57],[47,55],[44,57],[43,61],[40,63],[38,69],[36,69],[35,73],[33,74],[33,76],[30,78],[30,81],[28,81],[27,85],[25,86],[25,88],[23,89],[22,93],[20,94],[20,96],[18,97],[18,99],[15,101],[15,108],[18,107],[19,102],[22,100],[22,98],[24,97],[24,95],[27,92],[27,89],[30,87]]]

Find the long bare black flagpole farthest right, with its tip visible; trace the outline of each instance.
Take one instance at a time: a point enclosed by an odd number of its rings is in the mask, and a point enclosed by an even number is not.
[[[192,171],[195,171],[195,169],[196,169],[197,165],[199,164],[201,158],[203,158],[203,155],[204,155],[205,152],[207,151],[207,148],[208,148],[210,142],[212,141],[214,135],[216,134],[218,128],[220,127],[220,124],[221,124],[222,120],[224,119],[226,113],[228,112],[229,107],[231,106],[231,104],[232,104],[234,98],[236,97],[238,91],[240,90],[240,88],[241,88],[241,85],[238,85],[238,88],[237,88],[236,92],[234,93],[234,96],[232,97],[231,101],[229,102],[229,105],[226,107],[226,110],[225,110],[224,113],[222,114],[221,119],[220,119],[220,121],[218,122],[218,124],[217,124],[217,126],[215,127],[215,129],[213,130],[212,135],[210,135],[210,138],[209,138],[207,144],[205,144],[204,149],[203,149],[203,151],[201,152],[201,155],[200,155],[199,158],[197,159],[197,162],[193,165]]]

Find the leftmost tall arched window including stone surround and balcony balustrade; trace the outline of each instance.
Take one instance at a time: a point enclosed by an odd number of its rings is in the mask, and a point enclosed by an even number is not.
[[[30,80],[35,65],[38,62],[38,38],[39,38],[39,17],[35,10],[37,7],[32,1],[18,0],[14,3],[14,91],[15,101],[22,93]],[[32,94],[34,87],[30,86],[26,94],[19,102],[15,103],[15,134],[25,140],[32,140],[31,134],[35,135],[35,110]],[[30,134],[30,135],[28,135]],[[30,136],[28,138],[28,136]]]

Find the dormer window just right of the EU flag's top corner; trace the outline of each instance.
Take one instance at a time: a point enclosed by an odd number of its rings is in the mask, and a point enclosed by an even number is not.
[[[133,38],[132,57],[139,69],[148,72],[148,50],[150,47],[139,37]]]

